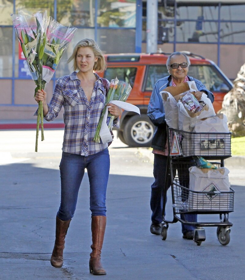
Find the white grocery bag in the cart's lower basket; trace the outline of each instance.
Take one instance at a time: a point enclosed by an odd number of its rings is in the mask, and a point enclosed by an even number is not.
[[[230,193],[229,170],[225,167],[190,167],[189,207],[192,210],[231,211],[233,196]]]

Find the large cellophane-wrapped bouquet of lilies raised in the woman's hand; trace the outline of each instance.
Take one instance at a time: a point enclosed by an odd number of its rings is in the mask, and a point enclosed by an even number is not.
[[[44,89],[46,83],[51,80],[77,28],[65,27],[52,17],[47,19],[47,11],[30,14],[20,10],[18,15],[12,14],[11,17],[32,79],[36,84],[35,97],[38,89]],[[35,152],[40,123],[43,141],[42,101],[38,104]]]

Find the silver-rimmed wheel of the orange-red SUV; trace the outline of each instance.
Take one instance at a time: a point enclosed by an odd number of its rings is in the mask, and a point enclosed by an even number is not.
[[[134,115],[127,119],[124,139],[132,147],[149,147],[154,134],[154,125],[147,115]]]

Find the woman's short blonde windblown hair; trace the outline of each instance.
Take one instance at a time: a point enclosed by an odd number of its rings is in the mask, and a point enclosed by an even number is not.
[[[98,44],[92,39],[83,39],[76,44],[72,55],[70,56],[70,58],[67,61],[67,63],[69,63],[73,60],[74,71],[76,71],[78,69],[76,56],[77,56],[77,50],[80,47],[90,47],[94,53],[94,56],[98,58],[98,60],[94,63],[94,68],[93,68],[94,71],[103,72],[106,69],[104,53],[100,50],[100,47],[98,46]]]

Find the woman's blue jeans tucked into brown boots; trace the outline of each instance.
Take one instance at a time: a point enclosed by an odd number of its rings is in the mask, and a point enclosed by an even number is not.
[[[68,221],[74,216],[85,168],[89,176],[89,209],[92,216],[106,216],[105,200],[110,170],[108,149],[87,157],[63,152],[59,168],[61,202],[57,213],[58,218]]]

